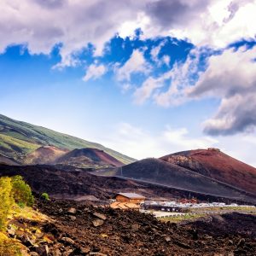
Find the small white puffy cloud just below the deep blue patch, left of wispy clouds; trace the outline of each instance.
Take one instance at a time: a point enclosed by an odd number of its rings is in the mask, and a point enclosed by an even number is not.
[[[131,58],[125,62],[124,66],[116,69],[116,77],[119,81],[129,82],[133,73],[148,73],[150,67],[143,56],[143,52],[135,49]]]

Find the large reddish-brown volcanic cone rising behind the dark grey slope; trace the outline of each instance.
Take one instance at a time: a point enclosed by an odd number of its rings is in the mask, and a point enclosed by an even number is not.
[[[224,154],[218,148],[183,151],[160,159],[256,195],[256,168]]]

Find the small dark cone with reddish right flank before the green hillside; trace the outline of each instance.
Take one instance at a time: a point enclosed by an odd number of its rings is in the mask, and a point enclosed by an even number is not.
[[[63,154],[59,159],[55,160],[55,163],[66,166],[94,168],[103,166],[124,166],[122,162],[115,159],[110,154],[96,148],[74,149],[66,154]]]

